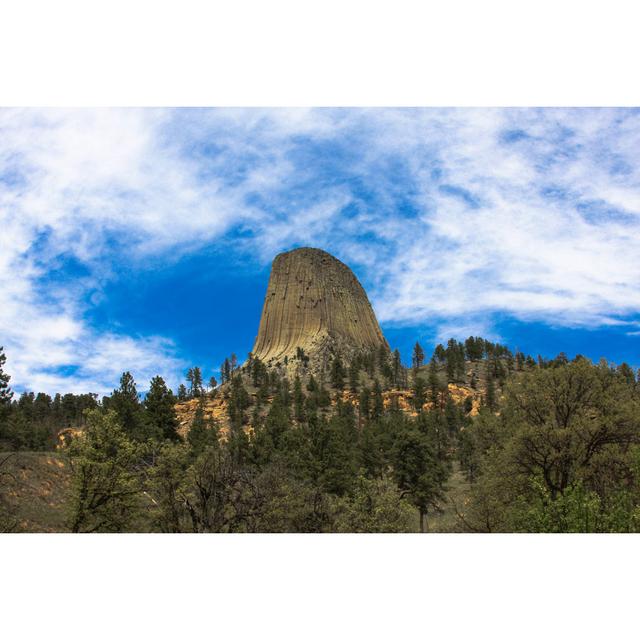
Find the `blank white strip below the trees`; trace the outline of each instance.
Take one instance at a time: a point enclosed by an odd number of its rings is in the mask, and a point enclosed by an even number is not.
[[[601,639],[628,637],[637,623],[632,535],[43,534],[1,543],[11,638]]]

